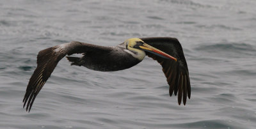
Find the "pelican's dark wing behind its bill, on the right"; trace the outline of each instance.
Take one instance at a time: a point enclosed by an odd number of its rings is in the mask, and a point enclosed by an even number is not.
[[[172,96],[178,93],[179,105],[183,96],[183,103],[186,105],[187,96],[190,98],[191,87],[189,80],[188,65],[183,54],[182,47],[176,38],[154,37],[154,38],[140,38],[143,42],[156,47],[163,52],[166,52],[170,56],[176,57],[177,62],[170,59],[164,59],[156,56],[150,52],[146,52],[148,57],[157,60],[163,67],[163,72],[166,80],[170,86],[169,93]]]

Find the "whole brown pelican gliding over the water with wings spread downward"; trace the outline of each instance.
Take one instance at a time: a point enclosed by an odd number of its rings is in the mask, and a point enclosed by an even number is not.
[[[157,48],[157,49],[156,49]],[[83,54],[82,57],[70,57]],[[163,67],[168,82],[169,94],[178,94],[178,103],[186,105],[191,88],[189,72],[182,47],[176,38],[130,38],[117,46],[103,47],[89,43],[70,42],[41,50],[37,55],[35,72],[29,79],[23,108],[30,111],[39,91],[51,76],[58,62],[67,56],[71,65],[85,66],[91,70],[113,72],[131,68],[147,55]],[[172,56],[170,56],[172,55]],[[174,56],[174,57],[173,57]]]

